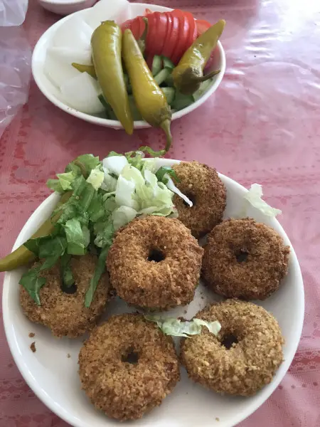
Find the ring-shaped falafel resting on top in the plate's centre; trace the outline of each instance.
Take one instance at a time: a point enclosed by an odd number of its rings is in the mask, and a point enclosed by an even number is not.
[[[118,233],[107,257],[117,295],[146,309],[193,300],[203,248],[180,221],[163,216],[134,220]]]

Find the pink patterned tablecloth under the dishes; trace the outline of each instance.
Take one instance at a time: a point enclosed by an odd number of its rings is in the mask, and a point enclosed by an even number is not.
[[[114,0],[115,1],[115,0]],[[24,25],[32,46],[58,17],[35,0]],[[152,3],[154,1],[151,1]],[[284,212],[302,266],[306,317],[289,373],[241,427],[320,426],[320,1],[156,0],[198,18],[228,22],[228,69],[215,96],[174,122],[170,157],[197,159],[245,186],[261,183]],[[0,143],[0,252],[49,194],[46,179],[81,153],[105,156],[164,144],[161,132],[121,131],[77,120],[31,83],[28,105]],[[294,316],[294,313],[292,313]],[[65,427],[21,378],[1,327],[0,427]]]

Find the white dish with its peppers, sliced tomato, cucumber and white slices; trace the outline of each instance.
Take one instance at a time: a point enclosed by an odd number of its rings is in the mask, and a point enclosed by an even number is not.
[[[97,33],[102,33],[102,29],[106,30],[105,33],[110,33],[110,21],[114,21],[111,37],[113,41],[117,31],[122,32],[124,70],[122,73],[115,73],[115,80],[118,80],[118,88],[121,80],[125,93],[119,94],[118,90],[115,100],[112,99],[114,90],[110,88],[110,80],[115,82],[114,74],[101,76],[101,55],[95,54],[100,52],[99,43],[102,40],[102,35]],[[102,22],[105,23],[105,28]],[[212,24],[197,21],[187,11],[172,11],[148,4],[130,4],[126,0],[117,1],[117,4],[111,6],[109,1],[101,0],[91,9],[79,11],[58,21],[43,34],[33,51],[33,77],[42,93],[61,110],[97,125],[124,128],[129,134],[133,129],[150,125],[164,128],[164,120],[161,122],[163,116],[154,120],[156,114],[151,117],[146,112],[149,110],[146,108],[149,100],[145,100],[143,94],[147,92],[148,85],[150,89],[147,80],[152,80],[161,92],[163,105],[168,111],[165,125],[168,129],[170,120],[182,117],[202,105],[215,92],[223,78],[225,53],[218,38],[225,21],[215,23],[213,30]],[[196,73],[199,74],[196,75],[192,69],[191,75],[182,75],[181,78],[181,70],[188,74],[188,65],[194,65],[194,55],[189,55],[189,49],[198,40],[198,36],[205,34],[207,30],[211,33],[206,36],[204,44],[207,49],[202,53],[202,58],[206,57],[206,60],[197,65]],[[132,37],[128,36],[128,31]],[[141,56],[144,55],[144,60],[149,65],[148,75],[141,73],[141,69],[130,69],[132,58],[125,59],[125,45],[127,51],[132,51],[132,46],[142,48]],[[188,53],[185,68],[181,63],[183,53]],[[97,67],[92,63],[92,54]],[[180,68],[179,62],[183,65]],[[121,68],[121,58],[117,66],[118,69]],[[95,75],[95,68],[98,69],[98,75]],[[104,84],[107,89],[102,88]],[[111,90],[111,94],[108,90]],[[129,117],[127,122],[123,118],[123,108],[122,112],[117,110],[117,104],[123,105],[123,99],[125,104],[129,104],[127,109],[132,115],[132,119]],[[155,104],[157,112],[161,106],[159,107],[159,102],[151,100],[151,105]]]

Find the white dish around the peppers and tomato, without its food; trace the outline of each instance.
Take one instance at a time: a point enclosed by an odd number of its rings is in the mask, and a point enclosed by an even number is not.
[[[100,3],[102,3],[102,1],[103,0],[100,0]],[[122,4],[122,1],[119,1],[119,3]],[[113,5],[114,2],[110,1],[110,5],[111,4]],[[63,23],[65,23],[69,19],[74,19],[75,16],[81,19],[87,19],[88,14],[92,14],[92,11],[94,11],[95,8],[97,8],[98,6],[101,9],[101,5],[98,3],[92,9],[79,11],[70,16],[66,16],[64,19],[61,19],[57,23],[53,24],[53,26],[48,28],[46,33],[43,33],[43,35],[39,39],[33,51],[33,56],[32,56],[33,78],[36,81],[36,84],[38,85],[38,88],[41,90],[43,95],[45,95],[48,98],[48,100],[53,102],[54,105],[59,107],[60,110],[68,112],[70,115],[73,115],[82,120],[85,120],[86,122],[94,123],[95,125],[112,127],[113,129],[123,129],[121,123],[117,120],[107,120],[105,118],[88,115],[84,112],[75,110],[73,107],[70,107],[69,105],[67,105],[65,102],[59,99],[59,90],[55,87],[55,85],[53,85],[53,83],[51,83],[46,73],[44,73],[44,63],[46,59],[47,49],[51,46],[53,36],[55,36],[55,34],[59,32],[59,29],[63,25]],[[119,21],[120,23],[125,21],[128,18],[131,19],[131,18],[134,18],[135,16],[143,15],[146,8],[151,9],[151,11],[160,11],[160,12],[172,10],[163,6],[156,6],[153,4],[139,4],[139,3],[128,4],[128,6],[126,6],[126,9],[119,10],[119,13],[116,13],[114,11],[114,9],[116,8],[117,6],[114,5],[114,7],[109,6],[109,8],[107,8],[106,10],[100,11],[100,14],[101,14],[100,21],[105,21],[107,19],[117,19],[117,21]],[[172,120],[176,120],[188,114],[189,112],[196,110],[196,108],[200,107],[200,105],[202,105],[203,102],[205,102],[208,99],[208,97],[212,95],[220,85],[221,80],[223,79],[223,75],[225,73],[225,51],[223,50],[223,46],[220,43],[220,41],[218,42],[218,49],[215,52],[216,52],[216,55],[214,57],[211,69],[212,70],[220,69],[220,73],[218,75],[215,75],[215,77],[213,78],[213,83],[210,85],[208,90],[203,94],[203,96],[199,100],[197,100],[196,102],[193,102],[193,104],[189,105],[188,107],[183,108],[183,110],[174,112],[174,114],[172,115]],[[134,129],[142,129],[145,127],[150,127],[150,125],[144,122],[143,120],[137,120],[134,122]]]

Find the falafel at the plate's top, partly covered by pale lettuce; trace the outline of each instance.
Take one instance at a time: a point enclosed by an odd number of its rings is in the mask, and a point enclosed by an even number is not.
[[[199,238],[223,219],[227,191],[215,169],[198,162],[181,162],[173,167],[180,182],[176,186],[193,202],[190,207],[174,196],[178,219]]]

